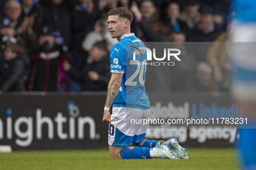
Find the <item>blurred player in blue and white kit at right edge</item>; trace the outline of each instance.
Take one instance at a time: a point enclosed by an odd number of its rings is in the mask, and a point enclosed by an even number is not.
[[[256,1],[233,0],[231,8],[232,94],[243,110],[243,118],[248,120],[239,127],[237,148],[241,168],[256,170]]]

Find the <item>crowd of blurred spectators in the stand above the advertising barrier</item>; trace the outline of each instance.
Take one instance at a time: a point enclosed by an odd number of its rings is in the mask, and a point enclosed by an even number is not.
[[[107,12],[119,6],[144,42],[193,42],[165,71],[168,91],[229,90],[229,0],[1,0],[0,91],[106,91],[118,42]]]

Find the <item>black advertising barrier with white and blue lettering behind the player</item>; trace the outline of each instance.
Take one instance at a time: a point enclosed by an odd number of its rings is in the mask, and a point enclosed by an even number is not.
[[[149,99],[154,120],[231,117],[240,112],[229,94],[149,93]],[[106,148],[105,100],[106,92],[1,94],[0,145],[13,150]],[[232,125],[152,123],[149,127],[146,138],[176,138],[186,147],[233,147],[239,137]]]

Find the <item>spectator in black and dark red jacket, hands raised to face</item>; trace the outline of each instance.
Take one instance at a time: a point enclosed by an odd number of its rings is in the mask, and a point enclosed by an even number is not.
[[[72,61],[68,47],[56,44],[51,27],[43,27],[38,42],[34,47],[35,54],[30,57],[32,63],[28,90],[61,91],[65,84],[66,91],[71,91],[71,79],[65,75],[63,60]]]

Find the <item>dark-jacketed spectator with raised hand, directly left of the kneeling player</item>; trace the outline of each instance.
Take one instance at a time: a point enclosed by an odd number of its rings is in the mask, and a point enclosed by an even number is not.
[[[104,42],[97,42],[89,51],[90,63],[84,66],[82,72],[78,72],[70,63],[63,63],[64,70],[74,80],[81,82],[82,91],[107,91],[111,73],[107,45]]]

